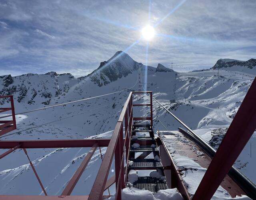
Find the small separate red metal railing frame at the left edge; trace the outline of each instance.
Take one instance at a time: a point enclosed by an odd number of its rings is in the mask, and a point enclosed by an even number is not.
[[[0,96],[0,98],[10,98],[11,107],[10,108],[0,108],[0,113],[11,110],[12,111],[12,120],[0,120],[0,136],[16,129],[16,119],[14,111],[14,102],[13,96]]]

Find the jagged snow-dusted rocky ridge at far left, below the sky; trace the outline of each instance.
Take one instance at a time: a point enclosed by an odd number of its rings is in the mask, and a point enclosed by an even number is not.
[[[59,98],[68,92],[70,82],[75,84],[78,80],[71,74],[56,72],[0,76],[0,96],[13,95],[19,103],[48,105],[52,97]],[[4,101],[0,100],[0,104],[4,104]]]

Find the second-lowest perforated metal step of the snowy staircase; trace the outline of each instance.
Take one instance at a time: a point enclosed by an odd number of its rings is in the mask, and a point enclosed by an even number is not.
[[[133,164],[129,166],[131,169],[148,170],[162,168],[162,163],[154,159],[134,159]]]

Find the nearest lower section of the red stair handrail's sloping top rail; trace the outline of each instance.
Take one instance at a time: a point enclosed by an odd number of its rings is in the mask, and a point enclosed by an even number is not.
[[[105,189],[106,181],[108,179],[108,173],[114,157],[114,152],[118,143],[118,137],[122,122],[117,122],[115,130],[112,134],[108,148],[106,150],[102,164],[100,165],[99,172],[96,176],[92,190],[90,192],[88,200],[101,200]]]

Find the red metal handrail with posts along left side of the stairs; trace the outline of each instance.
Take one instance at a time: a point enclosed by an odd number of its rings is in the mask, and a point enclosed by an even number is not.
[[[106,150],[104,159],[100,166],[99,172],[96,176],[94,185],[92,186],[92,190],[90,192],[88,200],[98,200],[102,198],[103,192],[105,190],[106,182],[108,179],[108,174],[110,170],[110,166],[112,164],[113,157],[115,156],[115,182],[116,182],[116,200],[121,199],[121,190],[125,188],[126,178],[127,178],[127,167],[126,173],[124,173],[124,157],[126,153],[126,166],[128,166],[128,158],[129,158],[129,150],[130,150],[130,142],[132,138],[132,121],[133,118],[133,104],[132,104],[132,94],[141,94],[148,93],[150,94],[150,110],[152,111],[152,92],[130,92],[112,137],[110,139],[108,148]],[[137,105],[138,106],[138,105]],[[144,105],[143,105],[144,106]],[[150,120],[152,122],[152,112],[150,115]],[[124,126],[124,131],[123,131]],[[125,138],[123,138],[123,132],[125,133]],[[124,178],[124,174],[126,177]]]

